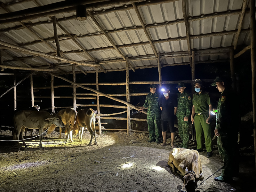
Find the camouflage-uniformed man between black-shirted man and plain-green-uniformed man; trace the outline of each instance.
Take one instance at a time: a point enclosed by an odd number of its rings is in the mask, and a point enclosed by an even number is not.
[[[191,96],[185,91],[186,86],[183,82],[178,83],[179,94],[178,94],[178,110],[177,110],[177,121],[178,128],[182,143],[178,146],[181,148],[188,148],[189,140],[189,122],[188,116],[190,115],[191,109]]]

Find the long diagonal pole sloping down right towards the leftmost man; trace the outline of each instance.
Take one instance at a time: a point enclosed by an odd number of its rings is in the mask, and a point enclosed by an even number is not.
[[[62,80],[64,80],[64,81],[67,81],[68,83],[75,84],[75,85],[77,85],[78,87],[81,87],[82,89],[86,89],[86,90],[89,90],[89,91],[98,93],[99,95],[105,96],[105,97],[107,97],[107,98],[109,98],[109,99],[118,101],[118,102],[123,103],[123,104],[125,104],[125,105],[129,105],[131,108],[134,108],[134,109],[136,109],[136,110],[139,110],[139,109],[140,109],[140,108],[138,108],[138,107],[136,107],[136,106],[134,106],[134,105],[132,105],[132,104],[130,104],[130,103],[124,101],[124,100],[120,100],[120,99],[117,99],[117,98],[115,98],[115,97],[111,97],[111,96],[109,96],[109,95],[107,95],[107,94],[105,94],[105,93],[99,92],[99,91],[94,90],[94,89],[89,88],[89,87],[84,87],[83,85],[78,84],[78,83],[75,83],[75,82],[73,82],[73,81],[70,81],[70,80],[68,80],[68,79],[66,79],[66,78],[64,78],[64,77],[62,77],[62,76],[58,76],[58,75],[56,75],[56,74],[54,74],[54,73],[50,73],[50,72],[46,72],[46,73],[49,73],[50,75],[53,75],[53,76],[55,76],[55,77],[57,77],[57,78],[60,78],[60,79],[62,79]],[[125,107],[125,106],[124,106],[124,107]],[[143,111],[143,113],[146,114],[145,111]]]

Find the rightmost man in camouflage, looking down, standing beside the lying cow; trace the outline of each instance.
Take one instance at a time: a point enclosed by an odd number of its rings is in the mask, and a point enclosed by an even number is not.
[[[224,161],[221,176],[215,177],[215,181],[230,181],[238,173],[239,164],[237,161],[237,135],[239,127],[239,114],[237,113],[236,92],[228,86],[224,78],[216,77],[212,86],[221,92],[216,114],[216,128],[220,157]]]

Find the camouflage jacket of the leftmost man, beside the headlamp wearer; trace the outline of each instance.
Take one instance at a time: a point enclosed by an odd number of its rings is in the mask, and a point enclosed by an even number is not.
[[[143,107],[147,108],[147,115],[149,116],[160,116],[160,107],[159,107],[159,95],[158,93],[149,93],[146,97]]]

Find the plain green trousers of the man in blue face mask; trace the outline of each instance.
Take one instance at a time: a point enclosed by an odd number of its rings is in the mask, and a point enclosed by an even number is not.
[[[208,118],[208,113],[203,113],[202,115],[197,115],[195,118],[195,130],[196,130],[196,143],[197,149],[202,149],[202,134],[204,131],[204,139],[205,139],[205,148],[207,152],[212,152],[212,129],[211,125],[206,123],[206,119]]]

